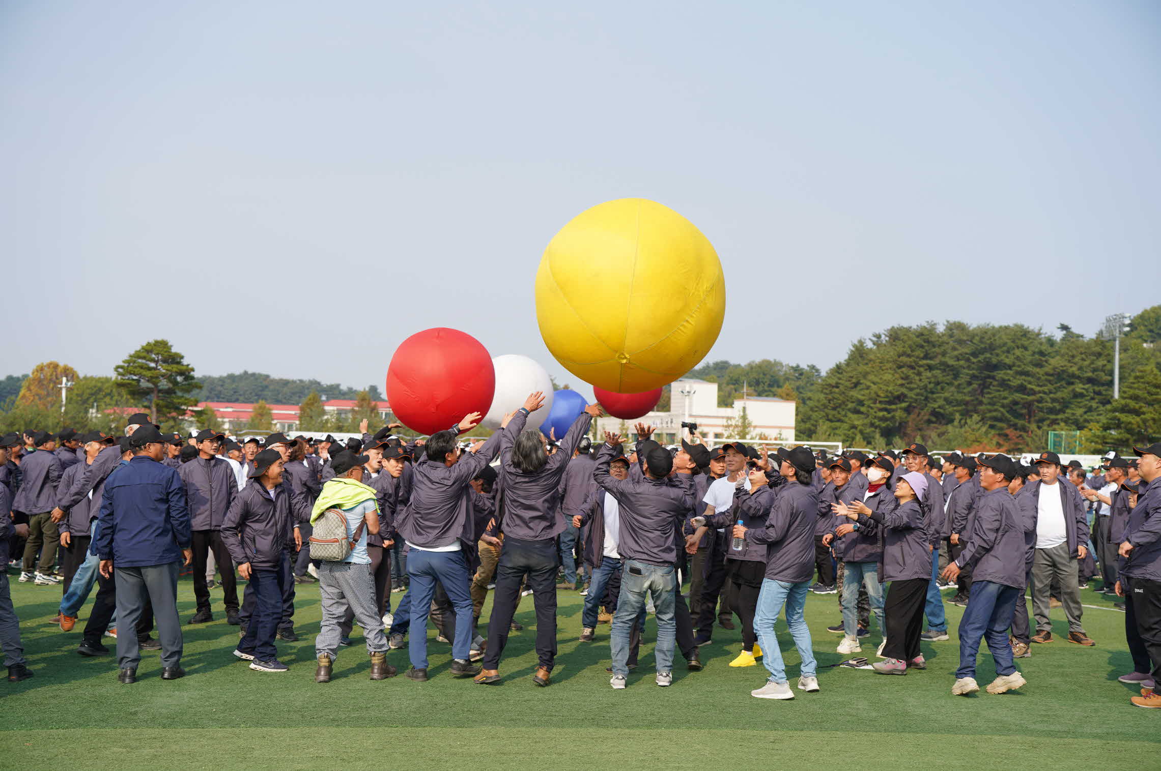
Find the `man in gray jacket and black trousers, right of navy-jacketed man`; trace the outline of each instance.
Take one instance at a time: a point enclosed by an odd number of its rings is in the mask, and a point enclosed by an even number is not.
[[[238,494],[238,481],[225,459],[217,454],[225,435],[205,429],[194,437],[197,457],[178,466],[178,475],[186,486],[189,502],[189,522],[193,530],[194,551],[194,597],[197,612],[190,624],[214,620],[210,611],[210,590],[205,582],[205,561],[210,550],[222,572],[222,592],[225,603],[226,623],[238,625],[238,588],[233,575],[230,551],[222,540],[222,523]]]

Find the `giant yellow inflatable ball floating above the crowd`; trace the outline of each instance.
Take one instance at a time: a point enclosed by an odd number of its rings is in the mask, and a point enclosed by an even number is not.
[[[644,198],[582,212],[553,237],[536,271],[536,320],[556,361],[616,393],[672,383],[722,328],[726,282],[693,223]]]

